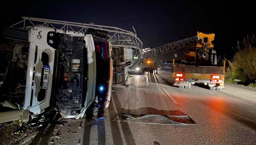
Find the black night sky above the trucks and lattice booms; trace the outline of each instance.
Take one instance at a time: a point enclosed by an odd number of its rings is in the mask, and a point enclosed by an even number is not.
[[[143,42],[143,48],[157,47],[203,31],[215,33],[214,43],[218,54],[231,58],[234,53],[231,47],[236,47],[237,40],[256,33],[255,6],[245,1],[211,2],[8,1],[1,4],[1,38],[3,28],[21,21],[22,16],[94,22],[130,31],[131,26],[134,26]],[[5,39],[1,39],[2,42]]]

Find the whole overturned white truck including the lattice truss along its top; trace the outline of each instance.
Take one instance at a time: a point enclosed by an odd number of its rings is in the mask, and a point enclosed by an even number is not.
[[[138,63],[134,56],[141,57],[142,42],[135,30],[133,33],[94,24],[23,19],[6,28],[4,35],[29,45],[23,84],[24,121],[52,105],[65,118],[83,117],[89,108],[93,111],[108,107],[112,86],[126,86],[127,68]],[[18,25],[23,25],[22,29]]]

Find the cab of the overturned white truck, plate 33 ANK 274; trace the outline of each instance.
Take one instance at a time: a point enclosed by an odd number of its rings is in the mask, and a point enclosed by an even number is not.
[[[24,112],[36,116],[56,102],[63,117],[80,118],[90,106],[108,107],[113,60],[104,36],[36,25],[28,42]]]

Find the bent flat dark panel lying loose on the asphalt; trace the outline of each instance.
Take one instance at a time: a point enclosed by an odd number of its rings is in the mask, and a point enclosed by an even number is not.
[[[196,125],[189,116],[165,116],[154,114],[134,115],[119,113],[112,121],[139,124]]]

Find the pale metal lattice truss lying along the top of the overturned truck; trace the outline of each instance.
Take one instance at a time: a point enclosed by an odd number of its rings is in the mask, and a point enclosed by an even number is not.
[[[111,26],[102,26],[78,22],[68,22],[68,21],[59,21],[59,20],[50,20],[50,19],[41,19],[41,18],[32,18],[32,17],[22,17],[23,20],[15,23],[10,26],[10,28],[21,28],[27,29],[30,26],[35,25],[44,25],[52,27],[54,29],[62,29],[64,31],[77,31],[77,32],[86,32],[88,28],[93,28],[97,30],[107,31],[108,38],[107,40],[112,43],[114,47],[129,47],[134,49],[142,49],[142,42],[137,37],[137,34],[134,30],[134,33],[117,27]]]

